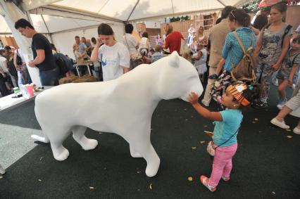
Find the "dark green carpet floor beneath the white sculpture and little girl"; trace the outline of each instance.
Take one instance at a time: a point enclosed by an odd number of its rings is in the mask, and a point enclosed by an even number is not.
[[[0,123],[39,129],[33,108],[30,102],[1,113]],[[49,144],[38,143],[6,169],[0,198],[300,198],[300,136],[272,126],[276,114],[275,101],[244,114],[231,179],[220,181],[215,193],[199,183],[199,175],[211,173],[204,130],[213,124],[189,103],[171,100],[161,101],[152,118],[151,142],[161,158],[153,178],[144,174],[144,159],[131,158],[123,138],[89,129],[87,136],[99,141],[95,150],[82,150],[69,137],[70,156],[58,162]],[[297,122],[287,117],[292,127]]]

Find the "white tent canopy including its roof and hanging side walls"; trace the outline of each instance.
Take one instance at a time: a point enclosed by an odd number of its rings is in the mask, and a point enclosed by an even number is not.
[[[4,0],[0,0],[4,1]],[[29,15],[37,32],[49,39],[63,53],[73,57],[71,46],[75,35],[97,37],[96,27],[108,23],[120,41],[125,21],[146,21],[156,18],[212,13],[225,6],[240,6],[245,0],[15,0],[25,15]],[[0,6],[0,13],[1,6]],[[0,16],[0,34],[10,34],[6,21]]]

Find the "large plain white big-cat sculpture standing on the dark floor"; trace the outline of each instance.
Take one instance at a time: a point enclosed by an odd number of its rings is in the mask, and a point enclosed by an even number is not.
[[[196,69],[175,51],[150,65],[139,65],[108,82],[62,84],[43,91],[35,99],[35,115],[44,136],[32,139],[51,143],[56,160],[68,158],[63,141],[73,138],[84,150],[98,145],[87,139],[87,127],[122,136],[134,158],[147,162],[146,175],[155,176],[160,159],[150,141],[151,116],[161,99],[182,98],[203,91]]]

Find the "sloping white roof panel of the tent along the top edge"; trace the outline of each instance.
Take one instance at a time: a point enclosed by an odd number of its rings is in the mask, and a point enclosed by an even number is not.
[[[80,11],[95,17],[120,21],[218,11],[225,6],[239,6],[245,2],[244,0],[54,0],[52,4],[46,6],[44,2],[44,4],[38,4],[37,1],[23,0],[23,8],[25,8],[25,11],[34,11],[37,7]],[[48,0],[48,3],[50,2],[51,0]]]

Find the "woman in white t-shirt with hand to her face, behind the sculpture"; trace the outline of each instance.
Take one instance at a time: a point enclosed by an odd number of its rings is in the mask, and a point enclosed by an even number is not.
[[[116,79],[129,71],[130,53],[124,44],[115,41],[113,29],[106,23],[99,25],[98,34],[91,60],[101,61],[104,81]],[[104,45],[100,47],[101,41]]]

